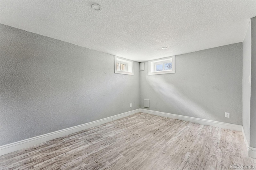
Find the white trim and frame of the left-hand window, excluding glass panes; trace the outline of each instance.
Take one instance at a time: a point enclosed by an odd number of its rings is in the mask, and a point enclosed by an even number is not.
[[[118,59],[123,60],[123,61],[118,61]],[[125,62],[125,61],[127,61],[127,62]],[[114,56],[114,67],[115,67],[115,71],[114,71],[114,72],[115,72],[116,74],[134,75],[133,62],[134,62],[134,61],[132,61],[132,60],[130,60],[130,59],[118,57],[118,56],[115,55],[115,56]],[[116,64],[117,64],[117,63],[126,64],[126,71],[118,70],[118,69],[116,68]],[[128,66],[129,63],[131,63],[130,66]],[[119,64],[119,68],[120,68],[120,64]],[[131,71],[129,71],[129,70],[130,70],[129,67],[131,67],[131,68],[130,68]]]

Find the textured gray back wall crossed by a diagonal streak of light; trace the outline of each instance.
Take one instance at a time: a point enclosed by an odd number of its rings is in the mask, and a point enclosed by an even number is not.
[[[242,125],[242,43],[177,55],[175,62],[175,73],[165,75],[148,75],[145,63],[141,108],[150,99],[150,110]]]

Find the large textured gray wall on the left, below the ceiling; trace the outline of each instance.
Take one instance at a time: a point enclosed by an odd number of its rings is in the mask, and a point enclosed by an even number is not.
[[[133,76],[115,74],[113,55],[0,31],[0,145],[140,108],[139,63]]]

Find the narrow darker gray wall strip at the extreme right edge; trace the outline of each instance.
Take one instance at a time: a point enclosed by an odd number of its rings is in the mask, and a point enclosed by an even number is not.
[[[250,113],[250,146],[256,148],[256,17],[251,19],[252,29],[252,83]]]

